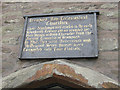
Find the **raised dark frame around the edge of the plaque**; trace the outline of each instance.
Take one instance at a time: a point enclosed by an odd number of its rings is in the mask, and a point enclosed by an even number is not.
[[[22,58],[22,52],[23,52],[23,46],[24,46],[24,41],[25,41],[25,35],[26,35],[26,29],[27,29],[27,23],[28,23],[28,18],[32,18],[32,17],[50,17],[50,16],[65,16],[65,15],[82,15],[82,14],[93,14],[94,15],[94,29],[95,29],[95,37],[97,38],[95,39],[95,55],[94,57],[61,57],[61,58]],[[81,11],[81,12],[66,12],[66,13],[50,13],[50,14],[35,14],[35,15],[24,15],[23,18],[25,19],[24,21],[24,28],[23,28],[23,32],[22,32],[22,39],[21,39],[21,43],[20,43],[20,49],[19,49],[19,59],[20,60],[27,60],[27,59],[75,59],[75,58],[98,58],[98,36],[97,36],[97,16],[99,15],[99,11],[95,10],[95,11]]]

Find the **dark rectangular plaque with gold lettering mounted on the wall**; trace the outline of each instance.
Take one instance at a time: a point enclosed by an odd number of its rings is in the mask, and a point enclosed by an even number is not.
[[[98,57],[98,11],[27,15],[20,59]]]

